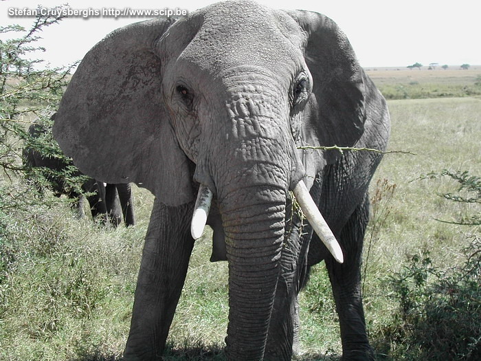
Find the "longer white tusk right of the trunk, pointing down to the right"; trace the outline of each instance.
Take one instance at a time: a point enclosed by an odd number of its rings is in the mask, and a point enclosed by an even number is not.
[[[344,262],[344,256],[342,254],[341,246],[334,237],[333,231],[326,223],[324,217],[322,217],[321,212],[315,205],[309,190],[306,188],[306,184],[300,181],[293,190],[295,199],[298,201],[304,216],[306,216],[311,226],[313,226],[315,232],[321,239],[322,243],[326,245],[327,249],[334,256],[335,260],[339,263]]]

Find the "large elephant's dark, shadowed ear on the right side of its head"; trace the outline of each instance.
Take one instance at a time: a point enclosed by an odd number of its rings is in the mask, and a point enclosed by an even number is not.
[[[305,34],[304,57],[313,94],[304,116],[303,138],[313,146],[353,146],[364,131],[363,69],[337,24],[316,12],[287,11]],[[324,154],[326,161],[339,152]]]

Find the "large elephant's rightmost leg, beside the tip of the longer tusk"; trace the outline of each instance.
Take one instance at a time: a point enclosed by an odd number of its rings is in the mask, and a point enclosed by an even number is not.
[[[361,296],[361,253],[369,216],[368,195],[340,233],[344,263],[326,257],[341,327],[343,360],[374,360],[366,334]]]

